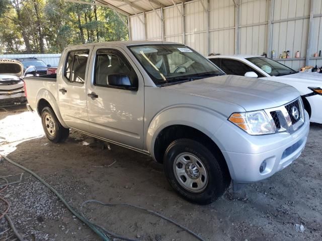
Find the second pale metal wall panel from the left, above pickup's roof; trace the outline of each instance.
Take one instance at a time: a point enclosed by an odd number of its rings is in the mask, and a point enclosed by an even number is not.
[[[161,11],[158,9],[155,12],[148,12],[145,14],[146,18],[146,39],[147,40],[161,40],[162,39],[162,23]]]

